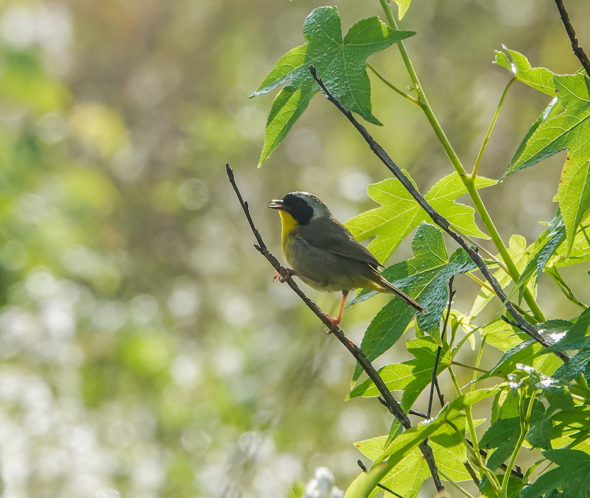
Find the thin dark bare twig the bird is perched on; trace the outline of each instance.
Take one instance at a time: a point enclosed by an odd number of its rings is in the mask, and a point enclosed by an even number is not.
[[[291,289],[293,289],[293,291],[297,294],[297,296],[300,297],[300,299],[306,304],[306,306],[310,310],[312,310],[312,312],[320,320],[322,320],[322,323],[326,327],[332,328],[333,324],[332,322],[330,322],[327,315],[322,312],[320,307],[317,306],[315,302],[313,302],[311,299],[309,299],[309,297],[306,296],[306,294],[299,288],[295,281],[291,279],[291,276],[289,273],[287,273],[286,268],[281,266],[274,254],[268,250],[266,244],[264,244],[264,240],[260,235],[260,232],[258,231],[258,228],[256,228],[256,225],[254,224],[254,221],[250,215],[248,203],[245,202],[242,198],[240,189],[238,189],[238,186],[235,183],[234,171],[231,169],[231,166],[229,164],[225,165],[225,171],[227,172],[228,179],[230,179],[231,186],[234,188],[235,195],[238,196],[238,200],[240,201],[242,210],[244,211],[244,214],[248,219],[248,224],[250,224],[250,228],[254,233],[254,237],[256,237],[256,240],[258,241],[258,244],[254,245],[256,250],[265,258],[267,258],[268,262],[274,267],[275,270],[278,271],[278,273],[284,278],[287,284],[289,284],[289,287],[291,287]],[[365,356],[365,353],[363,353],[362,350],[355,343],[352,342],[352,340],[349,340],[344,335],[344,332],[342,332],[342,329],[340,329],[340,327],[332,328],[332,335],[336,336],[336,338],[340,342],[342,342],[346,349],[350,351],[352,356],[355,357],[356,361],[359,362],[359,365],[362,366],[362,369],[373,381],[373,384],[375,384],[376,388],[379,389],[379,392],[385,400],[385,405],[389,409],[389,412],[391,412],[391,414],[393,414],[394,417],[399,420],[399,422],[404,426],[405,429],[411,428],[412,424],[409,421],[408,415],[405,414],[404,410],[402,410],[402,408],[399,406],[399,403],[395,400],[391,392],[389,392],[389,389],[385,385],[385,382],[383,382],[381,376],[379,376],[373,365],[371,365],[371,362],[369,362],[369,360]],[[444,486],[442,486],[440,478],[438,477],[438,469],[434,461],[434,454],[432,454],[432,450],[428,445],[427,441],[422,441],[422,443],[419,444],[419,448],[422,451],[422,454],[424,455],[424,458],[428,463],[428,467],[430,468],[432,479],[434,480],[434,484],[437,487],[437,491],[440,493],[442,490],[444,490]]]

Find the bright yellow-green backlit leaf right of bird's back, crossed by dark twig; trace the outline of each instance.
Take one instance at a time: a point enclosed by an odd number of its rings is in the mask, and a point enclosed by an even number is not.
[[[408,172],[404,173],[412,185],[416,186]],[[496,184],[495,180],[483,177],[478,177],[475,181],[476,188],[479,189]],[[357,240],[375,237],[369,243],[369,250],[381,263],[385,263],[409,232],[430,218],[395,178],[369,185],[368,194],[373,201],[381,204],[381,207],[363,212],[346,221],[345,225]],[[467,194],[467,188],[461,182],[458,173],[454,172],[434,184],[425,195],[425,199],[464,234],[489,238],[477,228],[475,210],[455,202],[455,199],[464,194]]]

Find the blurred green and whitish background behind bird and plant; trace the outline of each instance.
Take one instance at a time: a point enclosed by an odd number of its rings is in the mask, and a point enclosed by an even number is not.
[[[1,2],[2,496],[278,497],[316,466],[345,489],[353,441],[389,430],[374,399],[343,402],[352,358],[272,283],[225,176],[230,162],[277,254],[269,199],[312,191],[342,220],[374,207],[366,186],[387,171],[321,97],[255,167],[273,96],[247,97],[320,5]],[[376,0],[338,6],[344,30],[383,17]],[[590,47],[586,2],[568,8]],[[493,50],[578,69],[550,0],[416,1],[401,27],[418,32],[408,49],[468,169],[509,80]],[[409,84],[395,47],[371,63]],[[385,126],[370,131],[424,192],[450,164],[422,114],[372,84]],[[547,103],[513,86],[482,175],[499,178]],[[553,217],[564,157],[483,191],[505,241],[530,243]],[[405,244],[394,260],[409,255]],[[587,270],[563,271],[582,300]],[[468,312],[477,288],[455,287]],[[310,295],[336,309],[336,296]],[[347,310],[350,338],[387,299]],[[549,318],[578,313],[545,278],[539,302]]]

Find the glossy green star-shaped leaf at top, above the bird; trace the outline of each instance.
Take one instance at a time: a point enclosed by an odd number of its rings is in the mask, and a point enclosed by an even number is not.
[[[258,166],[277,148],[319,91],[309,71],[312,64],[326,87],[346,109],[360,114],[369,123],[381,125],[371,113],[371,84],[365,61],[370,55],[414,34],[412,31],[392,30],[379,18],[371,17],[353,25],[342,39],[338,9],[314,9],[303,24],[306,42],[283,55],[250,96],[256,97],[289,83],[274,99],[268,115]]]

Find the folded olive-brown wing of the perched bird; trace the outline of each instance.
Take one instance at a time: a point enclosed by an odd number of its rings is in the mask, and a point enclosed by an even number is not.
[[[335,218],[320,218],[300,225],[301,235],[316,247],[353,260],[368,263],[372,267],[383,266],[369,250],[359,244],[348,229]]]

